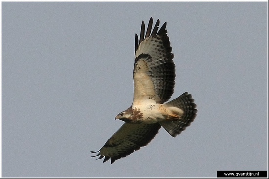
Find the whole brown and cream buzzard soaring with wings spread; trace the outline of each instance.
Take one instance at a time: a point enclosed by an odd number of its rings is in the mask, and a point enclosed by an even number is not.
[[[166,22],[158,31],[159,23],[157,20],[152,30],[150,18],[145,34],[142,21],[140,38],[135,34],[133,103],[115,117],[124,124],[91,157],[105,157],[103,162],[110,159],[112,164],[146,146],[161,127],[176,137],[194,121],[196,104],[188,92],[165,103],[174,92],[176,74]]]

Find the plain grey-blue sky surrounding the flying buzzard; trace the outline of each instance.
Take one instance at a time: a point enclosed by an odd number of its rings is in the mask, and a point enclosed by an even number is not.
[[[3,177],[267,170],[267,2],[2,2]],[[167,22],[197,117],[114,164],[91,158],[133,100],[134,38]]]

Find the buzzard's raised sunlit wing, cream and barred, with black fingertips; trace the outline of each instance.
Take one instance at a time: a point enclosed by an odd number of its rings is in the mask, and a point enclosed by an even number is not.
[[[134,99],[133,105],[144,99],[153,99],[157,103],[166,102],[174,92],[175,64],[171,53],[166,22],[158,31],[159,20],[152,29],[152,18],[145,34],[145,24],[142,21],[140,40],[135,34],[134,63]],[[158,31],[158,32],[157,32]]]

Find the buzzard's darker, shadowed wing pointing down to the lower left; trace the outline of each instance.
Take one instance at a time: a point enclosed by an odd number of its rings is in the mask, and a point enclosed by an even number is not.
[[[105,156],[103,163],[110,159],[112,164],[117,159],[126,157],[135,150],[139,150],[140,147],[146,146],[155,137],[160,128],[159,123],[130,124],[125,122],[119,130],[108,139],[96,156],[100,156],[98,159],[102,159]]]

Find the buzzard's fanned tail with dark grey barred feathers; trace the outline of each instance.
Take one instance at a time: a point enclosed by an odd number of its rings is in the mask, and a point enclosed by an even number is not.
[[[183,93],[178,98],[166,103],[167,106],[178,107],[184,111],[184,114],[176,121],[164,120],[159,121],[161,126],[173,137],[176,137],[187,126],[191,125],[196,117],[197,109],[192,95],[188,92]]]

